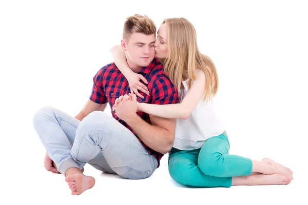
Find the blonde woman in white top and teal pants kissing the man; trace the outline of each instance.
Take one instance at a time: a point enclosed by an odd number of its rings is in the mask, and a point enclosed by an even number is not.
[[[181,103],[151,105],[138,103],[139,111],[177,118],[176,138],[169,152],[170,176],[184,186],[230,187],[237,185],[287,185],[293,172],[264,158],[252,160],[230,155],[224,125],[216,117],[211,97],[218,91],[218,75],[213,61],[200,53],[194,26],[185,18],[167,18],[158,30],[156,57],[166,74],[180,88]],[[129,69],[125,53],[119,46],[111,49],[115,65],[128,79],[130,90],[148,93],[139,80],[142,75]],[[122,100],[121,96],[112,109]]]

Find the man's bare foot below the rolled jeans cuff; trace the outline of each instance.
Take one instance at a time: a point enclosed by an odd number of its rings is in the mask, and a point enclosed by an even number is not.
[[[91,189],[95,184],[95,179],[84,174],[73,174],[65,177],[72,195],[80,195],[84,191]]]

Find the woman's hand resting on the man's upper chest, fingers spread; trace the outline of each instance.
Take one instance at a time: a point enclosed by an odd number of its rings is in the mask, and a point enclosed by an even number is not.
[[[127,81],[129,84],[131,94],[136,94],[138,97],[141,97],[142,99],[144,99],[144,97],[138,92],[138,90],[142,91],[148,96],[150,96],[150,93],[147,87],[140,82],[140,79],[144,81],[145,84],[148,84],[145,77],[143,77],[141,74],[131,72],[131,74],[127,77]]]

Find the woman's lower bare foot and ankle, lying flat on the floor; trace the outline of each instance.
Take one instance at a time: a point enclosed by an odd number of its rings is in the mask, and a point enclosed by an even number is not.
[[[253,174],[232,177],[232,186],[288,185],[291,179],[281,174]]]

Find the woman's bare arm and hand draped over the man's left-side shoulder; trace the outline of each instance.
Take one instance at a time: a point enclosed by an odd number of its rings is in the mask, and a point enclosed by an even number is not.
[[[147,84],[148,81],[143,77],[141,74],[137,74],[133,72],[126,61],[125,52],[121,48],[121,46],[113,46],[110,49],[113,61],[115,66],[121,71],[124,77],[127,79],[129,88],[132,94],[136,94],[138,97],[144,99],[144,97],[138,92],[138,90],[142,91],[143,93],[149,94],[147,87],[140,82],[140,79]]]

